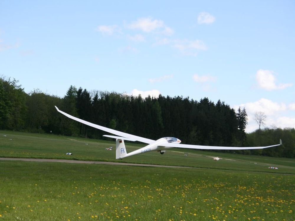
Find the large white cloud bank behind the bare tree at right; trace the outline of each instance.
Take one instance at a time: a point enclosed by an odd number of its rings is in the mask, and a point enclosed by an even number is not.
[[[239,107],[246,109],[248,114],[248,125],[246,132],[252,132],[258,129],[257,123],[254,121],[255,112],[263,112],[267,116],[266,126],[270,127],[275,125],[276,127],[295,127],[295,118],[282,116],[286,114],[288,110],[295,108],[295,104],[286,105],[285,103],[276,103],[271,100],[261,98],[255,102],[249,102],[240,105],[234,105],[234,109],[237,110]]]

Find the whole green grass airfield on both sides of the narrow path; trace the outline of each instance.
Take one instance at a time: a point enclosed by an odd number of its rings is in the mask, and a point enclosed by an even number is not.
[[[109,146],[0,131],[0,157],[116,161]],[[0,220],[294,220],[294,159],[171,149],[119,162],[201,169],[0,161]]]

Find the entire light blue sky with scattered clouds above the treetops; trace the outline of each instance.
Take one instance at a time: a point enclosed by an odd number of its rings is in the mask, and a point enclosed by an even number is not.
[[[295,127],[294,1],[1,1],[0,75],[245,107]]]

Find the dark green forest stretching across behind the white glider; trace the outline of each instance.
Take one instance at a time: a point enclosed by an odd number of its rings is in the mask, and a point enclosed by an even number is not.
[[[295,157],[294,128],[264,128],[245,133],[248,116],[209,98],[199,101],[159,95],[158,98],[117,92],[92,91],[70,86],[63,98],[39,89],[29,94],[15,79],[0,77],[0,129],[32,133],[54,133],[107,139],[95,128],[59,114],[54,106],[91,123],[150,139],[179,138],[184,144],[213,146],[268,146],[282,139],[283,145],[260,150],[238,150],[240,154]],[[230,151],[229,151],[230,152]]]

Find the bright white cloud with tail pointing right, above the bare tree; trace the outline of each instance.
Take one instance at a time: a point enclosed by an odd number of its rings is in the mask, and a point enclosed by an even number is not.
[[[266,90],[279,90],[293,85],[291,83],[276,85],[276,78],[273,75],[273,71],[270,70],[258,70],[256,73],[256,80],[259,87]]]

